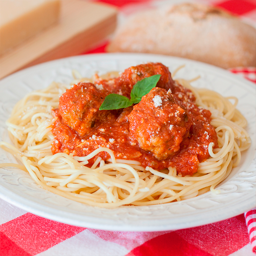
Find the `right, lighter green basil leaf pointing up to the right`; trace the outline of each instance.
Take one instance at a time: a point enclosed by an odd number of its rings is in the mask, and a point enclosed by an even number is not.
[[[150,90],[156,87],[161,75],[154,75],[146,77],[138,81],[131,90],[131,100],[135,98],[142,98],[144,95],[150,92]]]

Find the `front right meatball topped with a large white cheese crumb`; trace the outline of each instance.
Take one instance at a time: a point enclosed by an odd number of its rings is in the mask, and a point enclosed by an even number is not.
[[[192,120],[170,90],[155,87],[128,115],[131,143],[151,152],[158,160],[174,155],[189,136]]]

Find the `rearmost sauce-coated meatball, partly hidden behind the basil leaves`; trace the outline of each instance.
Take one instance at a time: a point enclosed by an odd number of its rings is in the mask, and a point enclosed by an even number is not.
[[[102,84],[112,93],[121,94],[130,99],[131,90],[137,81],[157,74],[161,75],[160,80],[157,83],[157,87],[172,90],[174,81],[172,80],[171,73],[169,69],[161,63],[147,63],[135,67],[129,67],[116,79],[108,81],[99,79],[96,83]]]

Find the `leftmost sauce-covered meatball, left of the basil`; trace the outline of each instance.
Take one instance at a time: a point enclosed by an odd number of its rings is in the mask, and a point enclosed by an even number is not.
[[[100,119],[106,120],[112,114],[111,111],[99,111],[99,107],[110,92],[102,86],[96,86],[84,82],[74,84],[59,99],[62,122],[81,137],[90,132]]]

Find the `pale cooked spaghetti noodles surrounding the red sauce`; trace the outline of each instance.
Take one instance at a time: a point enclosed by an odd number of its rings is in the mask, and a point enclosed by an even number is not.
[[[6,122],[14,145],[1,142],[0,146],[22,165],[3,163],[0,167],[20,168],[29,172],[38,186],[97,207],[163,204],[193,198],[209,190],[219,193],[215,186],[238,166],[241,151],[250,146],[250,137],[244,130],[247,122],[236,109],[236,98],[193,88],[184,79],[177,81],[193,92],[198,106],[211,111],[211,125],[218,136],[218,148],[209,143],[210,157],[199,163],[198,171],[192,176],[180,177],[175,167],[157,171],[144,168],[136,160],[116,159],[108,147],[98,148],[84,157],[63,152],[52,154],[55,140],[52,109],[58,108],[59,97],[70,88],[55,82],[46,89],[29,93],[15,105]],[[102,151],[109,154],[108,160],[95,158]],[[89,168],[86,165],[93,157],[96,160]]]

